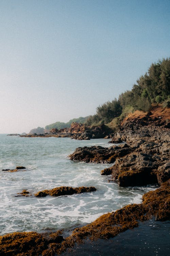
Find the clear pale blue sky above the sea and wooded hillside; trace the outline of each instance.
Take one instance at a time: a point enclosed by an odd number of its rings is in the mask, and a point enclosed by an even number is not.
[[[170,1],[0,0],[0,133],[93,115],[170,57]]]

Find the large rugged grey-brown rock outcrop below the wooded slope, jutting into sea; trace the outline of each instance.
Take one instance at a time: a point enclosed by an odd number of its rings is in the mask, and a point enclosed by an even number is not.
[[[126,143],[109,148],[77,148],[69,157],[84,162],[115,162],[111,168],[102,170],[101,175],[112,174],[119,186],[160,185],[170,178],[170,131],[165,125],[168,116],[169,109],[160,107],[149,113],[136,111],[125,118],[111,141]]]

